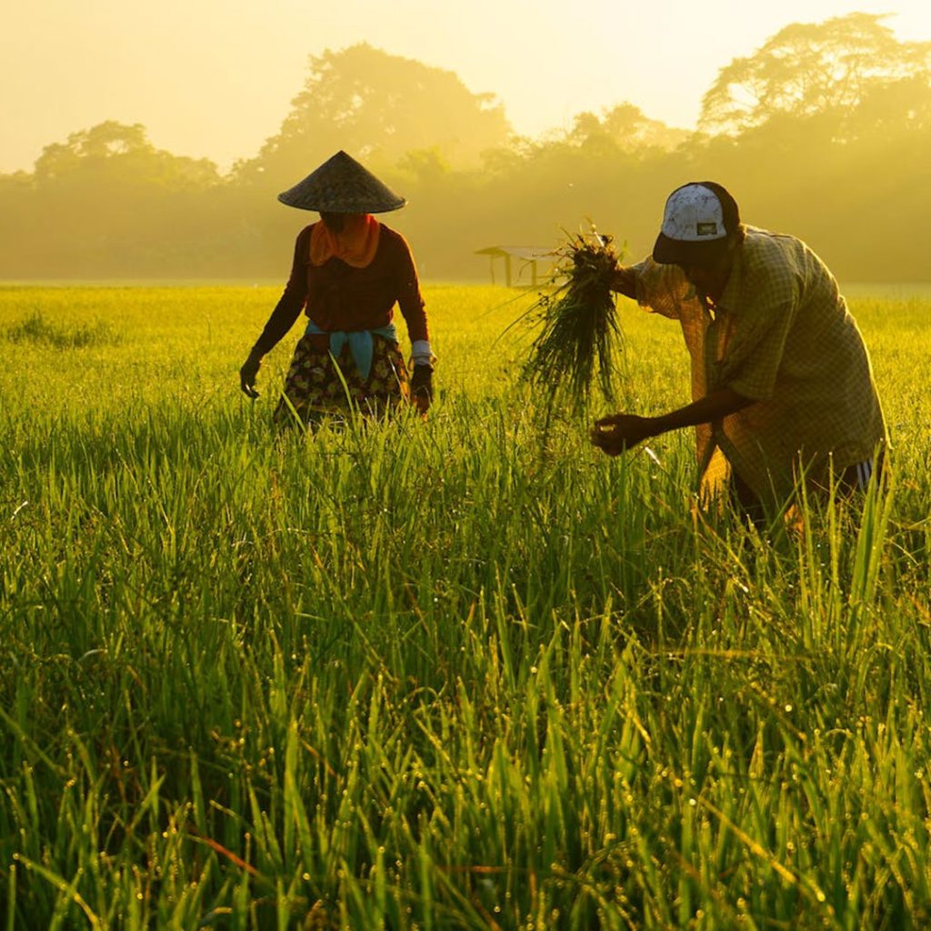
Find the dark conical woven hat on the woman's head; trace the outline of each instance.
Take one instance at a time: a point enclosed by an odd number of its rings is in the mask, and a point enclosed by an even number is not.
[[[386,213],[407,203],[343,151],[279,194],[278,200],[289,207],[329,213]]]

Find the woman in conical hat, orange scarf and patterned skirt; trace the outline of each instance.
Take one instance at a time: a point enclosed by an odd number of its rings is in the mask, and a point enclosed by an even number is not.
[[[370,171],[344,152],[278,195],[320,220],[298,234],[281,299],[239,370],[242,390],[258,397],[263,356],[301,315],[307,327],[294,349],[275,419],[307,425],[320,414],[356,408],[381,413],[411,400],[421,413],[433,394],[424,299],[404,237],[372,214],[404,206]],[[393,322],[400,307],[412,343],[409,377]]]

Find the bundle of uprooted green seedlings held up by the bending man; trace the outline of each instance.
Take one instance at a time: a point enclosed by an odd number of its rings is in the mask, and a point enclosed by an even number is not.
[[[621,331],[611,280],[618,255],[611,236],[571,236],[557,250],[554,290],[539,295],[524,319],[540,326],[521,375],[552,403],[587,408],[593,387],[614,399]]]

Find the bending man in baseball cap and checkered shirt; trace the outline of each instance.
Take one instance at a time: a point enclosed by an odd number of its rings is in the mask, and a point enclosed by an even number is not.
[[[703,486],[729,481],[758,523],[801,479],[865,488],[886,442],[870,357],[827,266],[794,236],[745,226],[715,182],[673,191],[652,258],[614,290],[678,319],[693,402],[657,417],[617,413],[592,443],[617,455],[694,426]]]

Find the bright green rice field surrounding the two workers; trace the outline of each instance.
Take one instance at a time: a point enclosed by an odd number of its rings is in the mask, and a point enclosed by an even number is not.
[[[425,422],[279,436],[277,293],[0,289],[0,926],[931,924],[931,295],[853,291],[890,488],[770,539],[543,434],[516,291],[425,290]]]

